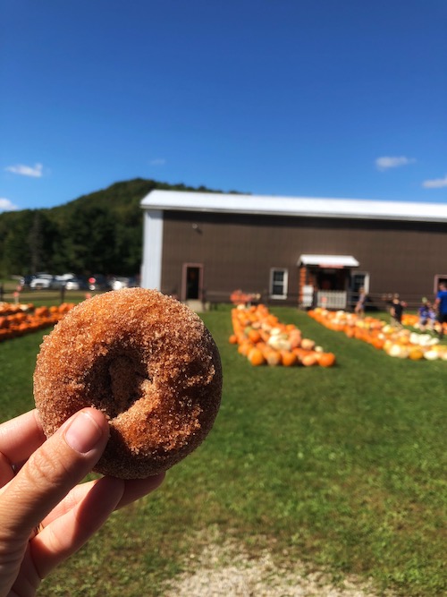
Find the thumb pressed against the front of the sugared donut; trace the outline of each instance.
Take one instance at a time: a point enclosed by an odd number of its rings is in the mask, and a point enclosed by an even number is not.
[[[109,437],[104,414],[84,408],[21,467],[0,500],[0,535],[28,542],[33,528],[91,471]]]

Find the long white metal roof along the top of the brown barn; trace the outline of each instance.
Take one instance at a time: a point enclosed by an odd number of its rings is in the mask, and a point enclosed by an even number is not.
[[[272,216],[350,217],[356,219],[447,222],[447,204],[315,197],[275,197],[213,192],[151,191],[143,209],[264,214]]]

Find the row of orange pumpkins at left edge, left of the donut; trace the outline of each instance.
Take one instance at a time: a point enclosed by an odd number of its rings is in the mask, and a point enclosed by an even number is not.
[[[33,304],[0,303],[0,342],[24,336],[38,329],[50,328],[74,307],[62,303],[52,307],[35,307]]]

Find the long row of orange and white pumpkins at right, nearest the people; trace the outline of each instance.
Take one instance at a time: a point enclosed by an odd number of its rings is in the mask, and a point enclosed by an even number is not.
[[[440,344],[439,339],[431,334],[417,333],[374,317],[361,318],[347,311],[328,311],[318,307],[308,311],[308,315],[326,328],[363,340],[390,356],[413,361],[447,361],[447,345]]]

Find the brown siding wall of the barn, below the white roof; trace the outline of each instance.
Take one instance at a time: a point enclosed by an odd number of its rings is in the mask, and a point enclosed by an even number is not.
[[[302,253],[353,255],[370,294],[431,295],[447,274],[447,225],[391,220],[164,212],[162,290],[181,293],[183,263],[201,263],[208,294],[266,293],[271,268],[289,271],[296,303]]]

